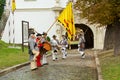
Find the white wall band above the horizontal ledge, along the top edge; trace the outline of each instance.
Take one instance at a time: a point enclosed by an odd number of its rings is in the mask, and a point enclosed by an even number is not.
[[[60,0],[60,6],[65,7],[68,0]],[[20,8],[51,8],[55,6],[55,0],[16,0],[17,9]]]

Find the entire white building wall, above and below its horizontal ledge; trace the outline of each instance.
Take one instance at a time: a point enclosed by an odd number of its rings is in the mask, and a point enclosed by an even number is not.
[[[7,0],[7,4],[9,4]],[[22,20],[29,22],[29,28],[34,28],[37,32],[46,32],[55,21],[56,14],[52,8],[56,5],[55,0],[15,0],[16,10],[14,16],[11,13],[7,21],[2,40],[7,43],[22,43]],[[60,0],[60,7],[65,7],[68,0]],[[9,11],[10,5],[7,6]],[[13,24],[14,19],[14,24]],[[8,24],[10,23],[10,25]],[[56,25],[50,29],[48,36],[56,34]],[[10,35],[9,35],[10,33]]]

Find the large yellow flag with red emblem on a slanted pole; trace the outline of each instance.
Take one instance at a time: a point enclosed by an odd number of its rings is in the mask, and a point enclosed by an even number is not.
[[[58,17],[58,21],[64,26],[67,31],[68,38],[71,38],[75,35],[75,25],[74,25],[74,15],[72,10],[72,2],[70,2],[66,8],[62,11]]]

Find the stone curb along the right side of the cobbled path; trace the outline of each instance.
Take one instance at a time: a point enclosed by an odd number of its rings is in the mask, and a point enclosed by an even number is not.
[[[99,58],[97,56],[97,51],[94,51],[94,55],[95,55],[95,62],[96,62],[96,67],[97,67],[98,80],[103,80],[102,74],[101,74],[100,62],[99,62]]]

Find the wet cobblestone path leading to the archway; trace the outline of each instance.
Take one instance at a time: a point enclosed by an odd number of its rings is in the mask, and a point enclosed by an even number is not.
[[[67,59],[52,61],[48,57],[49,65],[39,67],[35,71],[30,66],[22,67],[0,77],[0,80],[97,80],[94,51],[86,50],[86,58],[81,59],[76,49],[68,51]]]

